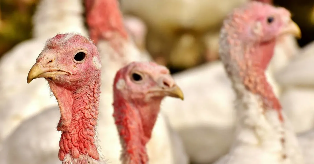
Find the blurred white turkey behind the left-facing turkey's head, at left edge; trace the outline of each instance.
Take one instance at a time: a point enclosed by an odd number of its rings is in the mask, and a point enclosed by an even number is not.
[[[1,58],[0,77],[5,78],[0,79],[0,144],[24,119],[57,106],[45,79],[25,83],[27,71],[48,37],[63,32],[87,36],[82,14],[80,0],[42,0],[34,15],[34,38],[18,44]]]

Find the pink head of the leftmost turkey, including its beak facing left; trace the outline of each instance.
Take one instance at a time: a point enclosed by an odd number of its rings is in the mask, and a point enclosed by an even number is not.
[[[57,85],[86,85],[101,68],[97,47],[75,33],[58,34],[46,41],[46,46],[30,69],[27,83],[44,77]]]

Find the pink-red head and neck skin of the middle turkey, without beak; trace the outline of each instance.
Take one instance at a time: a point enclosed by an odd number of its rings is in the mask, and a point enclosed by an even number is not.
[[[141,82],[132,80],[132,73],[142,75]],[[122,85],[121,80],[125,82]],[[114,80],[114,113],[122,144],[123,164],[146,164],[145,145],[160,111],[164,95],[148,93],[162,84],[175,85],[169,70],[151,62],[133,62],[121,68]],[[119,88],[123,86],[123,88]]]

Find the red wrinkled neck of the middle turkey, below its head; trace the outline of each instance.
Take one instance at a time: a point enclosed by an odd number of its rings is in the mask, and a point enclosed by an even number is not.
[[[114,97],[114,118],[122,144],[123,164],[147,164],[146,144],[151,138],[152,129],[160,111],[160,102],[155,104],[127,102]]]

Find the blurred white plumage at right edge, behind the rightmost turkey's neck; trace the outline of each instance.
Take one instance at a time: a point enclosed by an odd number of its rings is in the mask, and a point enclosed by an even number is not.
[[[296,132],[314,128],[314,42],[299,50],[275,78],[283,87],[280,97]]]

